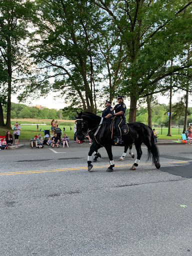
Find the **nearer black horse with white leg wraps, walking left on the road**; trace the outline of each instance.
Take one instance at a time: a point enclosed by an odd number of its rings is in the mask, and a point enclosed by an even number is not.
[[[97,150],[100,147],[105,147],[109,160],[110,166],[106,171],[113,171],[114,161],[112,158],[112,150],[111,146],[114,145],[114,140],[111,138],[110,131],[110,118],[102,118],[90,112],[80,112],[76,117],[76,135],[79,140],[84,139],[84,135],[87,132],[87,128],[89,129],[89,136],[93,139],[93,143],[90,146],[90,150],[88,152],[88,170],[92,168],[91,164],[91,155],[93,152],[97,153]],[[141,144],[144,143],[148,148],[148,158],[151,157],[152,154],[152,163],[154,163],[157,169],[160,168],[159,163],[159,152],[158,148],[154,143],[153,132],[152,129],[141,123],[141,122],[132,122],[128,123],[129,131],[126,135],[122,135],[122,141],[125,146],[125,149],[132,148],[132,143],[134,143],[137,157],[134,164],[130,167],[130,169],[135,169],[138,166],[140,161],[140,157],[142,155]]]

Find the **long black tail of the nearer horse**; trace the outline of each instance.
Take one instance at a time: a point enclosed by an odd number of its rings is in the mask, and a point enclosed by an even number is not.
[[[160,163],[159,163],[159,151],[158,151],[158,147],[156,146],[155,142],[154,142],[154,137],[153,137],[153,131],[152,129],[146,125],[146,129],[144,128],[144,133],[146,134],[146,132],[148,133],[148,136],[145,136],[145,141],[144,144],[147,146],[148,148],[148,158],[147,160],[149,160],[151,158],[152,155],[152,163],[154,163],[155,167],[157,169],[160,168]]]

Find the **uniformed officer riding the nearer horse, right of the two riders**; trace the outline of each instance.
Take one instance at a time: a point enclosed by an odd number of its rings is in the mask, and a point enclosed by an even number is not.
[[[121,131],[120,131],[120,126],[122,126],[125,122],[125,110],[126,110],[126,105],[123,102],[124,96],[118,95],[117,96],[117,102],[118,104],[115,105],[112,110],[114,110],[113,116],[115,117],[115,131],[117,134],[117,137],[114,137],[114,142],[115,143],[122,143],[122,138],[121,138]]]

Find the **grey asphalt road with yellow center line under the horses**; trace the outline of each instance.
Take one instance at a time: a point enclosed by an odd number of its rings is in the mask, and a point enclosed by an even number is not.
[[[115,146],[113,172],[88,148],[0,151],[0,256],[192,255],[192,147],[159,145],[157,170],[143,146],[130,170]]]

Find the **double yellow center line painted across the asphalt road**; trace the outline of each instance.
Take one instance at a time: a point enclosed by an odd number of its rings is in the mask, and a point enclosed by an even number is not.
[[[169,163],[185,163],[187,161],[182,162],[169,162]],[[166,162],[167,163],[167,162]],[[140,163],[140,165],[152,165],[152,163]],[[115,167],[126,167],[126,166],[132,166],[132,164],[117,164]],[[95,169],[108,167],[107,165],[98,165],[94,166]],[[0,176],[3,175],[16,175],[16,174],[29,174],[29,173],[41,173],[41,172],[54,172],[54,171],[66,171],[66,170],[82,170],[87,169],[87,166],[82,167],[67,167],[67,168],[59,168],[59,169],[44,169],[44,170],[21,170],[21,171],[12,171],[12,172],[1,172]]]

